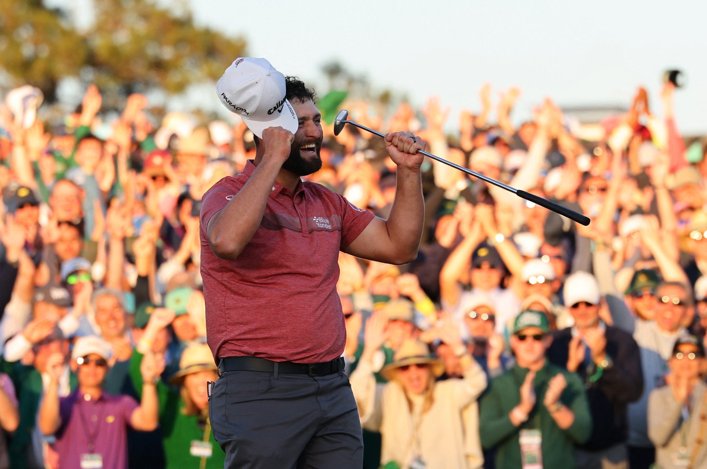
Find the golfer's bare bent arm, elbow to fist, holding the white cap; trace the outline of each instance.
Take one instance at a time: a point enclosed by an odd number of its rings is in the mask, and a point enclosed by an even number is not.
[[[235,260],[255,235],[282,163],[290,156],[294,138],[292,132],[282,127],[265,129],[262,161],[238,194],[209,219],[206,237],[211,250],[221,259]]]

